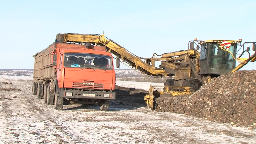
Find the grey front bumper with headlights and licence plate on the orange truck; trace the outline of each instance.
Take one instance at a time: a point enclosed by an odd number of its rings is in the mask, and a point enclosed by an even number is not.
[[[86,98],[86,99],[116,99],[115,92],[91,92],[79,90],[61,90],[60,97],[63,98]]]

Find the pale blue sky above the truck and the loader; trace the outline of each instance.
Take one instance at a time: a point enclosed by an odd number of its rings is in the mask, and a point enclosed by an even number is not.
[[[58,33],[105,30],[106,37],[140,57],[185,50],[194,38],[256,41],[255,4],[254,0],[2,1],[0,68],[33,69],[32,55],[52,44]],[[255,68],[249,63],[242,69]]]

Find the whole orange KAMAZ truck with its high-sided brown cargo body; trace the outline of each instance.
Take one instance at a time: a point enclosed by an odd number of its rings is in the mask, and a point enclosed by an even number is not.
[[[116,75],[111,53],[104,46],[90,43],[60,43],[62,34],[45,50],[33,55],[33,95],[44,99],[56,110],[68,104],[96,104],[107,111],[110,100],[116,98]],[[120,61],[117,59],[116,67]]]

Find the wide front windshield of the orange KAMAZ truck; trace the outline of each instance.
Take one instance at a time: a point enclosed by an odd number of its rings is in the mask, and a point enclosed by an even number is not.
[[[88,53],[65,53],[64,67],[113,69],[111,56]]]

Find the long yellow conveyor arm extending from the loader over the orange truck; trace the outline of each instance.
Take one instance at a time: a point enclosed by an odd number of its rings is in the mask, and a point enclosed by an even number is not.
[[[63,34],[64,36],[64,43],[84,43],[90,42],[95,43],[96,45],[106,46],[107,51],[114,54],[118,58],[122,59],[124,62],[128,63],[129,66],[135,67],[136,69],[140,70],[141,72],[147,75],[165,75],[164,69],[159,69],[154,66],[143,62],[140,57],[131,54],[125,48],[115,43],[113,40],[110,40],[105,37],[105,35],[91,35],[91,34]]]

